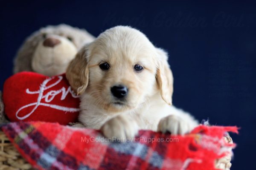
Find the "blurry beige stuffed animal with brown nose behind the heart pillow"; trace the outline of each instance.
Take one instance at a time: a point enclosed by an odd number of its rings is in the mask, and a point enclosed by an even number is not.
[[[21,45],[14,58],[14,74],[32,71],[45,76],[65,72],[78,49],[95,39],[85,29],[66,24],[46,26],[32,33]],[[7,122],[0,91],[0,123]]]

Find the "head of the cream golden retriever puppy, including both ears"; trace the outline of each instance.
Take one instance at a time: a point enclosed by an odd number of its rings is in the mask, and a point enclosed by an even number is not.
[[[67,69],[67,79],[77,93],[85,91],[111,113],[137,108],[162,88],[163,99],[169,104],[172,99],[166,54],[130,27],[111,28],[82,48]]]

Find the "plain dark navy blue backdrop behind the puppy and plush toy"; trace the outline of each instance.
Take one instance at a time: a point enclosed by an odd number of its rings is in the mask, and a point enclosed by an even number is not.
[[[254,169],[255,3],[44,0],[2,1],[0,9],[0,89],[18,47],[40,27],[66,23],[98,36],[116,25],[133,26],[169,52],[174,105],[214,125],[241,127],[232,135],[232,169]]]

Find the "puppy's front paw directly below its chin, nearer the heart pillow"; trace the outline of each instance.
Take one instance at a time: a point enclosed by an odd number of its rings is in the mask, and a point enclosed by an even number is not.
[[[134,120],[120,115],[110,119],[102,125],[100,130],[111,141],[125,142],[127,139],[133,139],[136,136],[139,127]]]

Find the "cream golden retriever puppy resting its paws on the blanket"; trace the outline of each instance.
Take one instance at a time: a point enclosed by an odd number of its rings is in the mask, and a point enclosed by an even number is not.
[[[185,134],[198,122],[172,105],[168,55],[137,29],[116,26],[85,45],[66,76],[81,95],[79,121],[108,137],[133,138],[139,129]]]

